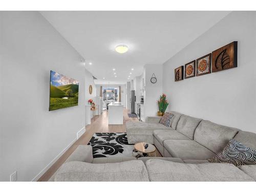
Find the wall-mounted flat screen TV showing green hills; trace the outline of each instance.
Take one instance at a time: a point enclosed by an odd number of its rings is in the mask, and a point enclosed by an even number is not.
[[[78,105],[79,82],[51,71],[49,111]]]

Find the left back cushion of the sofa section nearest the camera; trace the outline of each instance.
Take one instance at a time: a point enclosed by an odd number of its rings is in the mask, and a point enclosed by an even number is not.
[[[55,181],[148,181],[148,174],[140,160],[104,164],[71,161],[61,165]]]

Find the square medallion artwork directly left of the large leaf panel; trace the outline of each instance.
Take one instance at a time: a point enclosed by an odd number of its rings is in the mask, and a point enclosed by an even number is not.
[[[197,59],[197,76],[210,73],[211,53]]]

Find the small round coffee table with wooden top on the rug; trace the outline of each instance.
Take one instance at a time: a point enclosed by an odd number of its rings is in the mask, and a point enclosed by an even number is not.
[[[148,144],[147,148],[145,148],[145,144]],[[156,152],[156,147],[151,143],[140,142],[134,144],[133,155],[136,158],[139,157],[152,157],[152,154]]]

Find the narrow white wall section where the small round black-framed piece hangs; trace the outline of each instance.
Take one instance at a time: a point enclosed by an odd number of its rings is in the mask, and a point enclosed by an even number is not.
[[[144,80],[145,80],[145,93],[144,93],[144,119],[147,116],[156,116],[158,112],[157,99],[162,94],[162,65],[145,65],[144,66]],[[152,83],[151,77],[155,73],[157,82]]]

